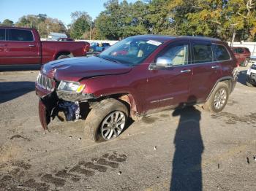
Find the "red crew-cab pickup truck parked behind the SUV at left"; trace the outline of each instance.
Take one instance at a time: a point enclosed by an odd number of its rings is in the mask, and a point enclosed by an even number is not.
[[[42,64],[86,55],[88,42],[40,41],[34,28],[0,27],[0,65]]]

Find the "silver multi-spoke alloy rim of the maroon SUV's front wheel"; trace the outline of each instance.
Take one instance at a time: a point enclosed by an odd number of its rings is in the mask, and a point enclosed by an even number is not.
[[[124,129],[126,120],[124,112],[116,111],[108,114],[100,127],[102,138],[109,140],[117,137]]]

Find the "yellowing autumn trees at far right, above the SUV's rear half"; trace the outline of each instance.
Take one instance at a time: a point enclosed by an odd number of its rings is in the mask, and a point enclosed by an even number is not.
[[[252,0],[173,0],[168,5],[178,34],[230,40],[252,39],[256,33]]]

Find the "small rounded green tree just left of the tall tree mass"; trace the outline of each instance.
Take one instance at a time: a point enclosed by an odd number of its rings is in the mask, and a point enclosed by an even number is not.
[[[71,17],[70,36],[74,39],[82,39],[83,34],[90,31],[91,17],[87,12],[72,12]]]

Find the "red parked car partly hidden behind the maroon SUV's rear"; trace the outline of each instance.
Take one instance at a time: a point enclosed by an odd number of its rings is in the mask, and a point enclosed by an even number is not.
[[[250,61],[251,52],[246,47],[231,47],[240,66],[246,67]]]

